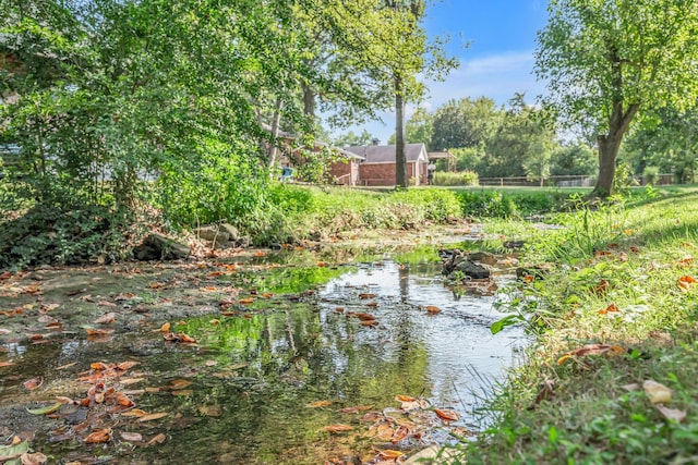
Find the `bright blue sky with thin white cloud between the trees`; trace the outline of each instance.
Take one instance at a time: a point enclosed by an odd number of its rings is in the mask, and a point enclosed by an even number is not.
[[[445,82],[428,83],[430,91],[421,106],[434,111],[452,98],[481,96],[506,105],[515,93],[526,93],[532,103],[544,93],[532,71],[535,33],[545,26],[545,0],[436,0],[426,10],[424,27],[430,36],[450,36],[447,51],[460,66]],[[408,106],[408,118],[414,108]],[[381,118],[384,123],[352,126],[335,135],[365,129],[385,144],[395,132],[395,114],[383,112]]]

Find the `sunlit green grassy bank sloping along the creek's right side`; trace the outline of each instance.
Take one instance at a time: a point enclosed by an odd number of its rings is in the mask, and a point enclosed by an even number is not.
[[[503,316],[534,343],[459,460],[698,463],[698,189],[579,207],[555,216],[563,230],[490,225],[526,235],[522,262],[554,271],[508,291]]]

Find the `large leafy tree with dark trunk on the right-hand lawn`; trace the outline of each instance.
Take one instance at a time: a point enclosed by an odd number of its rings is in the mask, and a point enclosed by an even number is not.
[[[594,194],[611,194],[624,135],[642,108],[693,105],[698,94],[698,3],[551,0],[535,73],[569,125],[598,134]]]

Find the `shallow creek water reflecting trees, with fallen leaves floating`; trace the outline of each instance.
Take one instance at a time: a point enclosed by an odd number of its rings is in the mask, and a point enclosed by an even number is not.
[[[3,368],[0,405],[16,408],[1,411],[0,428],[36,430],[32,446],[58,463],[348,463],[368,462],[376,448],[409,451],[443,443],[448,428],[477,429],[474,411],[526,338],[517,327],[492,335],[490,325],[502,318],[493,308],[495,297],[454,294],[440,269],[389,259],[347,267],[344,273],[340,268],[338,278],[315,292],[274,296],[238,316],[188,319],[177,331],[196,338],[198,344],[191,346],[139,330],[92,341],[65,333],[45,344],[9,344],[15,365]],[[441,313],[430,315],[426,306]],[[351,313],[371,314],[377,325],[362,326],[348,317]],[[49,394],[81,399],[89,384],[75,378],[96,360],[139,362],[106,383],[127,392],[137,408],[167,416],[153,421],[113,412],[96,416],[91,428],[111,428],[113,439],[91,445],[72,430],[84,417],[81,408],[63,406],[52,419],[25,412],[50,403]],[[21,381],[29,374],[43,376],[45,387],[27,394]],[[124,379],[136,381],[122,384]],[[406,414],[397,395],[425,403]],[[347,407],[358,408],[340,412]],[[446,428],[434,408],[457,412],[460,419]],[[376,442],[366,435],[371,424],[361,421],[366,412],[404,416],[420,433]],[[324,429],[336,424],[353,429]],[[143,441],[133,445],[122,432],[139,432]],[[164,443],[144,445],[158,433]]]

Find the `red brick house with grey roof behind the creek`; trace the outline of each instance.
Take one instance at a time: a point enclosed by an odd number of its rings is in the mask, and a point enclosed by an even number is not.
[[[396,184],[395,145],[365,145],[344,147],[363,161],[359,163],[357,184],[364,186],[394,186]],[[410,184],[426,184],[429,156],[424,144],[406,144],[407,178]]]

